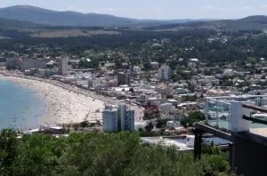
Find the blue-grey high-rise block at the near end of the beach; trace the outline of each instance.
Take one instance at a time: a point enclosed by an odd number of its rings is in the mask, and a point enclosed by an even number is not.
[[[134,110],[127,109],[125,103],[118,107],[106,105],[103,111],[103,131],[134,131]]]

